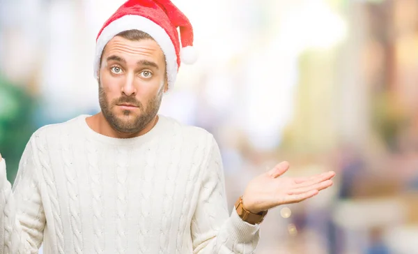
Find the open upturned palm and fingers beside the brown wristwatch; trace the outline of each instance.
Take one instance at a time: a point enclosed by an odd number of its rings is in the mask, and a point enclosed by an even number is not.
[[[280,177],[289,168],[286,161],[272,170],[252,179],[242,196],[242,206],[257,214],[281,204],[292,204],[314,197],[325,188],[332,186],[335,172],[325,172],[313,177]]]

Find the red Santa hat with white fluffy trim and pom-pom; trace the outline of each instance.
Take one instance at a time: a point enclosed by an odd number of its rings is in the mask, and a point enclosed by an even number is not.
[[[181,45],[178,39],[180,30]],[[176,81],[180,63],[196,61],[193,29],[187,17],[169,0],[128,0],[104,22],[96,39],[94,75],[98,78],[104,46],[118,33],[137,29],[148,33],[166,57],[169,88]]]

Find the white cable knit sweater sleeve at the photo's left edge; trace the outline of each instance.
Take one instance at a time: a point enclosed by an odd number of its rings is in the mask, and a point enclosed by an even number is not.
[[[6,178],[6,160],[0,161],[0,253],[38,253],[45,214],[33,141],[26,145],[13,188]]]

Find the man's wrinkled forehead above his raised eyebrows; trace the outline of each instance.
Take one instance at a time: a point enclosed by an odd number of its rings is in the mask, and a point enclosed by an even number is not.
[[[151,39],[127,40],[116,36],[104,47],[102,59],[106,61],[107,57],[111,55],[121,57],[127,63],[148,59],[165,65],[164,53],[155,40]]]

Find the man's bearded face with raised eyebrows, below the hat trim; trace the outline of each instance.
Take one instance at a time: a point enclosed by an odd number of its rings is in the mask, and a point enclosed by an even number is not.
[[[116,36],[104,47],[99,102],[104,118],[119,133],[138,133],[157,115],[167,91],[164,53],[154,40]]]

